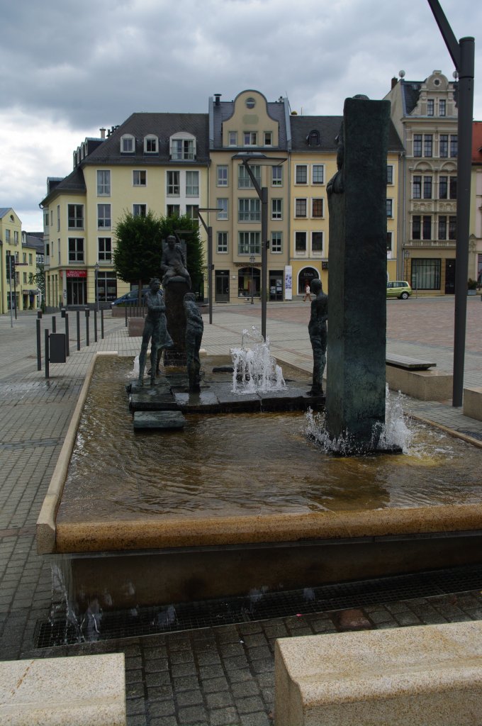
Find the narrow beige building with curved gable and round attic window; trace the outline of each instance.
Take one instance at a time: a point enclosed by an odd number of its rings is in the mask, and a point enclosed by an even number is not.
[[[259,91],[242,91],[234,101],[209,102],[213,299],[229,302],[261,295],[261,199],[267,189],[268,299],[285,298],[289,256],[290,124],[287,99],[268,102]]]

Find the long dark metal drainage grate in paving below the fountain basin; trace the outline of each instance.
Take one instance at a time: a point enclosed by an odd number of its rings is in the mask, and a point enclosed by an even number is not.
[[[71,613],[69,616],[66,608],[60,608],[48,621],[37,622],[34,647],[54,648],[96,640],[118,640],[480,589],[482,566],[467,566],[306,587],[303,590],[252,590],[247,597],[223,597],[130,610],[86,611],[79,619]]]

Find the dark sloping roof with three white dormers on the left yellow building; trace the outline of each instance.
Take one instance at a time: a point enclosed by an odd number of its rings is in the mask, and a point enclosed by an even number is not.
[[[196,139],[195,161],[183,161],[191,164],[208,164],[208,114],[207,113],[133,113],[120,124],[110,136],[102,141],[94,151],[81,161],[96,165],[150,165],[169,163],[169,138],[179,132],[192,134]],[[120,153],[120,138],[130,134],[136,139],[134,154]],[[158,136],[159,154],[144,154],[144,137],[148,134]],[[179,161],[176,161],[179,165]]]

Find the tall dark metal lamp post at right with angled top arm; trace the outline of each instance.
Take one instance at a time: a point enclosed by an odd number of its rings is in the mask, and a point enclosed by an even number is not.
[[[470,167],[472,161],[473,77],[475,41],[457,43],[438,0],[428,0],[459,76],[457,150],[457,247],[455,250],[454,380],[452,406],[462,406],[464,395],[465,326],[470,228]]]

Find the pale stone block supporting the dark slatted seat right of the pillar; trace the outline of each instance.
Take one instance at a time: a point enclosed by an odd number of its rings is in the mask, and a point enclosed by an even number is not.
[[[452,398],[453,376],[438,370],[406,370],[386,366],[388,388],[420,401],[446,401]]]

